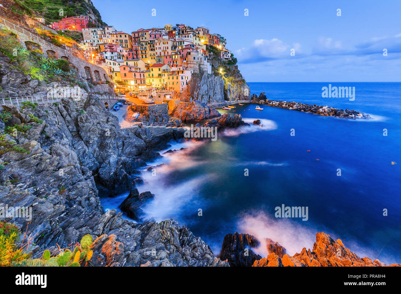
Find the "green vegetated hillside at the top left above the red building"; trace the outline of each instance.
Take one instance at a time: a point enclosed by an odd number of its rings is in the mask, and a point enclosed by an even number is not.
[[[63,17],[87,15],[95,20],[97,26],[105,26],[99,11],[91,0],[14,0],[20,8],[30,8],[36,16],[42,16],[49,22],[56,22]],[[63,14],[59,11],[63,9]],[[35,15],[33,15],[35,16]]]

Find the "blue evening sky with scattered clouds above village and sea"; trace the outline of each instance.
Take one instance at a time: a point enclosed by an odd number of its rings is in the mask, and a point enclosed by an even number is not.
[[[227,39],[247,82],[401,81],[401,0],[92,2],[126,33],[206,26]]]

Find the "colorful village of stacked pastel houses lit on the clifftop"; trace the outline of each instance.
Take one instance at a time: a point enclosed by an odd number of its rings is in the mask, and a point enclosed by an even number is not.
[[[224,61],[232,59],[225,48],[226,39],[211,34],[204,26],[165,24],[162,28],[140,28],[131,33],[114,26],[94,28],[88,16],[73,16],[53,22],[55,30],[78,30],[83,34],[79,44],[88,62],[102,67],[115,83],[116,92],[168,90],[182,92],[191,74],[208,72],[209,46],[221,50]]]

